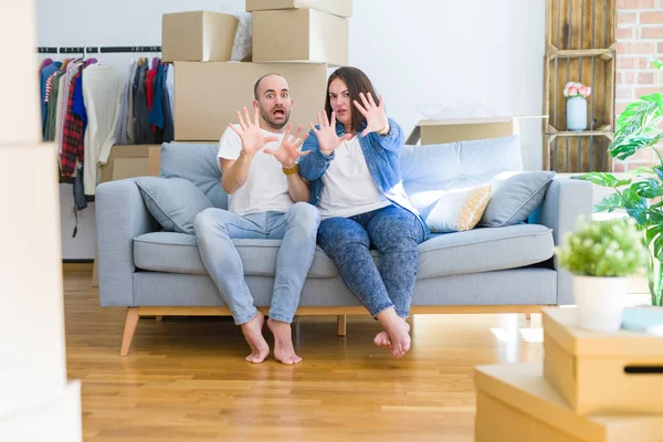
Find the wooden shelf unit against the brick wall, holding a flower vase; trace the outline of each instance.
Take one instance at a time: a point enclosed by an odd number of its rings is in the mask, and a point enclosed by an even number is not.
[[[544,169],[612,171],[614,136],[615,0],[546,0]],[[587,130],[567,130],[564,87],[591,87]]]

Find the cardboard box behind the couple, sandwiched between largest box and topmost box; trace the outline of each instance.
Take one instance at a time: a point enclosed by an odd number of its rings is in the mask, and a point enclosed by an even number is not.
[[[348,64],[349,21],[315,9],[253,13],[253,61]]]

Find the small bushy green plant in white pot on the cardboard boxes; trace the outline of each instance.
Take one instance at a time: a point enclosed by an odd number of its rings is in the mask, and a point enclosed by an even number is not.
[[[627,276],[644,257],[631,219],[580,222],[555,249],[559,265],[573,274],[577,326],[613,333],[621,328]]]

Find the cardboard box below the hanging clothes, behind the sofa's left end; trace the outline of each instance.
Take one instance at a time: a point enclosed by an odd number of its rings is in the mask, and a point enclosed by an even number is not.
[[[161,145],[113,146],[102,166],[102,181],[159,175]]]

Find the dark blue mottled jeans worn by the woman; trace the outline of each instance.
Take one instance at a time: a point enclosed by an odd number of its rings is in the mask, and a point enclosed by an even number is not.
[[[394,307],[408,317],[418,270],[417,245],[425,240],[419,219],[398,206],[320,223],[317,241],[346,285],[375,317]],[[379,267],[370,249],[380,255]]]

